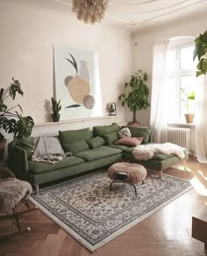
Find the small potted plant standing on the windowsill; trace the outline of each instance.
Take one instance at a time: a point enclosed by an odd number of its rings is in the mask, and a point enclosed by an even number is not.
[[[191,105],[192,100],[195,99],[195,92],[191,91],[190,93],[188,93],[183,88],[181,89],[181,92],[182,92],[182,98],[181,98],[182,103],[185,106],[186,112],[187,112],[184,114],[185,120],[187,123],[192,123],[194,119],[194,113],[189,113],[189,106]]]

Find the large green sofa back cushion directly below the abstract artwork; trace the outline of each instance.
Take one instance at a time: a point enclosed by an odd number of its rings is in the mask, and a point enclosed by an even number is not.
[[[93,132],[89,128],[78,130],[59,131],[62,147],[68,143],[73,143],[81,140],[88,140],[93,136]]]

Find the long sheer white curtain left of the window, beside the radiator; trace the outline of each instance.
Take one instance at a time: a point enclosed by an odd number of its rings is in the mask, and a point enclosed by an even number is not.
[[[150,126],[154,143],[167,142],[168,127],[168,50],[169,41],[153,47],[153,81]]]

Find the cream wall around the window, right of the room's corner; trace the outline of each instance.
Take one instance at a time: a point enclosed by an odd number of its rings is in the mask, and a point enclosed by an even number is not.
[[[206,29],[207,17],[196,16],[194,18],[185,18],[176,22],[168,23],[162,26],[154,26],[142,32],[133,33],[132,35],[132,69],[145,69],[149,76],[149,86],[152,84],[152,68],[153,68],[153,45],[156,41],[168,40],[177,36],[193,36],[203,33]],[[207,91],[207,88],[206,88]],[[206,93],[205,91],[205,93]],[[207,99],[204,109],[207,109]],[[139,113],[139,121],[144,125],[149,125],[150,109],[147,112]],[[207,116],[205,116],[204,124],[207,125]],[[205,126],[206,127],[206,126]],[[195,130],[192,129],[192,135],[195,140]],[[191,143],[195,150],[195,142]],[[207,149],[207,134],[205,134],[205,146]]]

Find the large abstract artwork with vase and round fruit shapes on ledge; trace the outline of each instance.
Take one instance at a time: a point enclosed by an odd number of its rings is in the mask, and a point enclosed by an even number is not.
[[[54,74],[56,99],[61,99],[61,121],[103,115],[96,53],[55,45]]]

